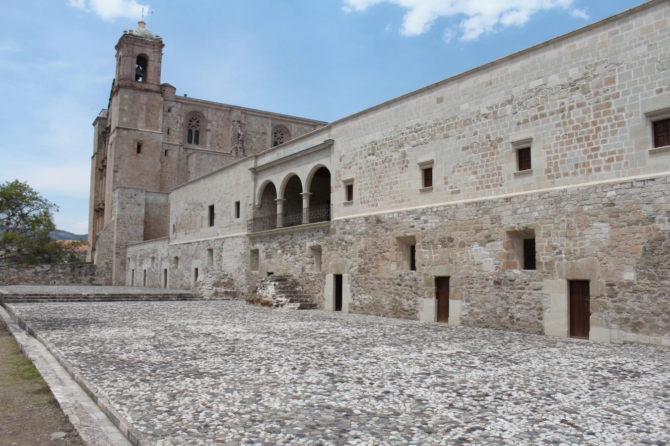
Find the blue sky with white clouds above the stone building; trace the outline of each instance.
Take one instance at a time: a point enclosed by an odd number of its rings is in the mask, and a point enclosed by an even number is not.
[[[28,181],[86,233],[91,124],[142,5],[178,94],[332,121],[638,3],[3,0],[0,182]]]

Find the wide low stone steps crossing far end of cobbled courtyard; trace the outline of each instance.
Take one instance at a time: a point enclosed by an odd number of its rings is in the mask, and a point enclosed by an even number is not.
[[[25,294],[0,292],[0,303],[21,304],[38,302],[170,302],[204,300],[196,293],[96,293],[96,294]]]

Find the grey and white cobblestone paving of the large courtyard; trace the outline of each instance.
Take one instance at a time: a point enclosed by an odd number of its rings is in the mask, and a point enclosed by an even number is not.
[[[242,302],[13,304],[155,445],[665,445],[670,354]]]

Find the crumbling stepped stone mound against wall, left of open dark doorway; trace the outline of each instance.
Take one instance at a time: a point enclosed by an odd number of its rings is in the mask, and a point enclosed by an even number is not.
[[[286,310],[314,310],[316,303],[290,275],[271,274],[259,280],[247,304]]]

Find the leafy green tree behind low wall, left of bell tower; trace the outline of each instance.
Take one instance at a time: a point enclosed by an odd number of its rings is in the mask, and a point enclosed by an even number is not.
[[[86,241],[58,241],[49,233],[56,229],[58,206],[42,197],[27,183],[14,180],[0,184],[0,263],[64,263],[76,257]]]

